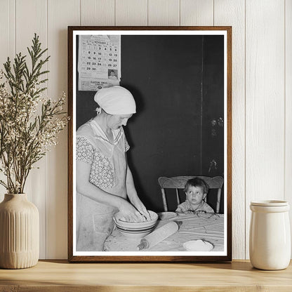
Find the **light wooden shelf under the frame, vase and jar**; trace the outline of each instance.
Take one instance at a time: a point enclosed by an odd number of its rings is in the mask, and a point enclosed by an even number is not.
[[[1,270],[0,291],[292,291],[292,263],[262,271],[232,263],[67,263],[41,260],[24,270]]]

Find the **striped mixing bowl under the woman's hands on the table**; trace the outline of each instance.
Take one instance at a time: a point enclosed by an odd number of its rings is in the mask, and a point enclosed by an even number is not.
[[[125,237],[138,239],[145,237],[147,234],[152,232],[157,224],[158,215],[153,211],[148,211],[150,213],[151,220],[143,222],[126,222],[117,219],[114,216],[114,223],[116,223],[117,229]]]

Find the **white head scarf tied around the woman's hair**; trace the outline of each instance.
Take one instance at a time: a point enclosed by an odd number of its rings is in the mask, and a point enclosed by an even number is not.
[[[121,86],[100,89],[95,93],[94,100],[107,114],[135,114],[136,112],[132,93]]]

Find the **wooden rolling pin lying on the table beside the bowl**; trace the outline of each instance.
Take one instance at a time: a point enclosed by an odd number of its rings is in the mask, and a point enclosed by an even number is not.
[[[182,224],[183,223],[181,221],[172,221],[166,223],[166,225],[158,228],[157,230],[154,230],[154,232],[146,235],[144,238],[141,239],[140,244],[137,246],[137,251],[156,246],[157,244],[159,244],[159,242],[177,232],[178,228]]]

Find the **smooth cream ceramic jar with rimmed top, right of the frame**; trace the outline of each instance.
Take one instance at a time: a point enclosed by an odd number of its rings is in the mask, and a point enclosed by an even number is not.
[[[251,202],[249,256],[261,270],[282,270],[291,258],[289,205],[286,201]]]

